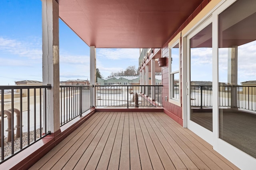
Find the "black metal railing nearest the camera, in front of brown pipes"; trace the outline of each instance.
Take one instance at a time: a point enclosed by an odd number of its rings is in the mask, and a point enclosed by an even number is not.
[[[47,121],[43,123],[46,92],[50,88],[51,85],[0,86],[0,164],[50,133],[45,128]]]

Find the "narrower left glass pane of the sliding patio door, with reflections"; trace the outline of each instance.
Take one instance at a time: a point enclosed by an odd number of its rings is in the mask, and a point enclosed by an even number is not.
[[[212,131],[212,23],[189,41],[190,120]]]

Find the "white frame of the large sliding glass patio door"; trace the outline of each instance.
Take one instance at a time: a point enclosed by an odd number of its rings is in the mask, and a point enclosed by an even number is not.
[[[189,128],[198,136],[212,144],[214,150],[222,154],[233,164],[241,169],[255,169],[256,159],[232,146],[219,138],[219,115],[218,115],[218,93],[212,95],[212,120],[213,132],[201,127],[200,125],[190,121],[190,57],[189,57],[189,39],[212,22],[212,89],[218,92],[218,15],[232,5],[236,0],[221,0],[218,5],[212,8],[205,16],[203,16],[197,24],[192,26],[190,30],[182,35],[182,111],[184,115],[183,126]]]

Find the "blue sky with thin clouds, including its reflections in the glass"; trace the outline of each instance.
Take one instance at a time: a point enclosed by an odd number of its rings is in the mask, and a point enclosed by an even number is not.
[[[90,80],[90,48],[61,20],[59,27],[60,81]],[[191,52],[191,80],[212,81],[212,49]],[[227,56],[227,49],[219,49],[220,82],[227,82]],[[255,56],[256,41],[238,47],[238,84],[256,80]],[[105,78],[128,66],[138,67],[138,58],[139,49],[96,49],[96,67]],[[0,0],[0,73],[0,85],[42,81],[41,0]]]

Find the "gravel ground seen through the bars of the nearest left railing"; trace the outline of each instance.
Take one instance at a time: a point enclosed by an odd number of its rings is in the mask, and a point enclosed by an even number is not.
[[[15,135],[14,135],[15,136]],[[29,133],[29,138],[30,138],[30,144],[34,142],[34,130],[30,131]],[[40,138],[40,128],[36,130],[36,140]],[[24,132],[22,134],[22,147],[24,148],[25,146],[28,145],[28,132]],[[1,152],[2,147],[0,147],[0,152]],[[15,138],[14,139],[14,153],[16,151],[20,150],[20,138]],[[12,142],[7,142],[7,137],[4,138],[4,157],[6,158],[7,156],[10,156],[12,154]],[[0,160],[2,156],[0,154]]]

